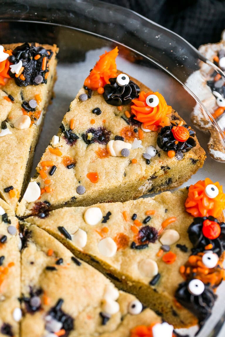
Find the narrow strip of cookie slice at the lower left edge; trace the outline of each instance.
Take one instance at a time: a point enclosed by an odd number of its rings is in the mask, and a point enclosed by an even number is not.
[[[19,337],[20,249],[18,219],[0,199],[0,336]]]

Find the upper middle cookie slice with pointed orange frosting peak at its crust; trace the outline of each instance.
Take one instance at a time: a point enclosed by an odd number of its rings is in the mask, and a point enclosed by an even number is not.
[[[126,201],[179,186],[203,165],[195,131],[160,93],[117,71],[117,54],[106,52],[91,70],[18,214]]]

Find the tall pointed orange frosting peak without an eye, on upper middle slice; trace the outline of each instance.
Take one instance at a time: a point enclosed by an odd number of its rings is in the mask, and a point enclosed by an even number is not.
[[[84,81],[84,85],[91,90],[97,90],[98,88],[102,88],[108,84],[110,78],[116,77],[117,55],[117,47],[110,52],[105,52],[105,54],[101,55],[99,61],[97,61],[89,76],[87,76],[86,80]]]

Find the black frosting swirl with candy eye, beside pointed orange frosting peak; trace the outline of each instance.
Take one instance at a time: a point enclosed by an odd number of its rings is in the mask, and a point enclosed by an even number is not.
[[[110,84],[105,85],[103,93],[103,97],[108,104],[127,105],[139,95],[140,88],[133,81],[130,81],[127,85],[119,86],[115,77],[109,79],[109,82]]]

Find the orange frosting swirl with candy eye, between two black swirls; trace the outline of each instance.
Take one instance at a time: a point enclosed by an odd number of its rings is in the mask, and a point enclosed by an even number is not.
[[[159,104],[154,108],[146,103],[146,98],[152,94],[159,98]],[[145,129],[156,131],[159,126],[170,125],[168,115],[171,114],[172,107],[167,105],[165,98],[159,92],[141,91],[139,97],[132,102],[134,105],[131,106],[131,112],[135,115],[134,119],[143,123]]]

